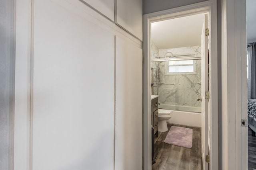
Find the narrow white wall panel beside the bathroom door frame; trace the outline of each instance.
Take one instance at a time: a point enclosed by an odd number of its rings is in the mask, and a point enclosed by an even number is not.
[[[142,170],[142,49],[116,37],[115,169]]]

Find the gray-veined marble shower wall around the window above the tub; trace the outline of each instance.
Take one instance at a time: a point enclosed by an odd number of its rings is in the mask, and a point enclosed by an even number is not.
[[[164,57],[167,52],[172,52],[174,55],[195,54],[196,57],[201,57],[201,46],[159,49],[158,55]],[[153,59],[153,56],[151,57]],[[197,98],[201,98],[201,60],[195,60],[196,74],[167,74],[167,64],[168,62],[153,64],[157,71],[153,71],[152,91],[154,95],[159,95],[160,104],[172,105],[176,109],[179,109],[179,106],[201,107],[201,102],[197,101]],[[164,84],[158,84],[156,87],[156,81]]]

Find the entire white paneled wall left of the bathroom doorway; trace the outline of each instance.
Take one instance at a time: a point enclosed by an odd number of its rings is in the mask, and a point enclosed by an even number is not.
[[[142,170],[142,42],[80,1],[17,2],[14,170]]]

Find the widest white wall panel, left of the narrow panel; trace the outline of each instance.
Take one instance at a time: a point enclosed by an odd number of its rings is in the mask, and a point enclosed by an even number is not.
[[[33,170],[113,169],[114,35],[34,0],[33,56]]]

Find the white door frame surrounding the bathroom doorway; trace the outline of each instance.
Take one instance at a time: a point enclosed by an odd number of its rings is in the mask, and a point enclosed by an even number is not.
[[[212,129],[209,135],[210,170],[218,169],[218,61],[217,61],[217,1],[209,0],[196,4],[163,10],[143,16],[143,167],[151,170],[151,87],[150,87],[150,32],[151,23],[194,14],[208,13],[210,24],[209,35],[209,70],[210,70],[210,107],[208,116]],[[212,128],[214,127],[214,128]]]

